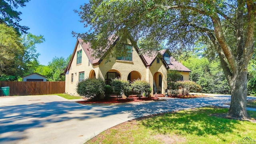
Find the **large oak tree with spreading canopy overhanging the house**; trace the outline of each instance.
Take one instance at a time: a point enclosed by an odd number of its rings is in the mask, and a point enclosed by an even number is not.
[[[111,46],[116,34],[123,43],[146,41],[142,49],[191,48],[208,38],[215,48],[231,89],[228,115],[246,118],[247,65],[254,54],[255,0],[90,0],[76,11],[90,31],[77,34],[90,42],[95,56]]]

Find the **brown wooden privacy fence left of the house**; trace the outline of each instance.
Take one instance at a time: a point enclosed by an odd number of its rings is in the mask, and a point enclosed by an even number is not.
[[[60,94],[65,92],[65,82],[7,82],[0,86],[10,87],[10,96]]]

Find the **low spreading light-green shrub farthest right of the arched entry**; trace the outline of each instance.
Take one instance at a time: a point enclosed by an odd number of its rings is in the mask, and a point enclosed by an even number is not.
[[[177,84],[181,87],[182,95],[188,95],[190,90],[200,91],[202,88],[199,84],[196,84],[193,81],[177,81]]]

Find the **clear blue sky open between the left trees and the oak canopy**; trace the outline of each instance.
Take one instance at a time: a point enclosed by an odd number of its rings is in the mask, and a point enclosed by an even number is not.
[[[45,38],[45,42],[36,45],[40,64],[47,65],[54,56],[67,58],[72,54],[76,44],[72,31],[88,31],[74,13],[84,3],[88,0],[30,0],[25,7],[18,8],[22,12],[20,25],[28,26],[28,32]]]

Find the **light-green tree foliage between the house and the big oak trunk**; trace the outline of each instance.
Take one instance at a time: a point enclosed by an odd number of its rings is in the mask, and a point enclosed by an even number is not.
[[[200,92],[230,94],[230,87],[219,60],[209,61],[206,57],[191,56],[182,64],[192,71],[189,74],[190,80],[202,87]]]

